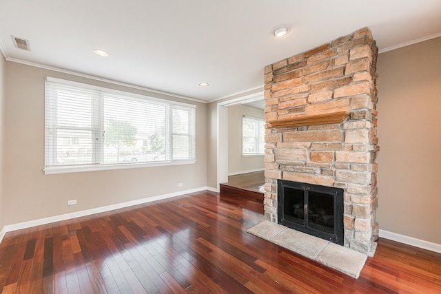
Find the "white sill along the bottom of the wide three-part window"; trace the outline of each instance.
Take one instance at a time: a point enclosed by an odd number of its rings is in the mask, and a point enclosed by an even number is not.
[[[169,165],[192,165],[196,160],[174,160],[174,161],[155,161],[155,162],[136,162],[114,165],[81,165],[81,166],[61,166],[43,169],[45,175],[81,173],[85,171],[109,171],[114,169],[135,169],[142,167],[165,167]]]

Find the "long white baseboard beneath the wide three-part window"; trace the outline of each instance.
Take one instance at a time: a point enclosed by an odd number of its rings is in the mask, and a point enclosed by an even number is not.
[[[178,192],[174,192],[174,193],[163,194],[160,196],[153,196],[153,197],[143,198],[143,199],[139,199],[139,200],[133,200],[133,201],[128,201],[128,202],[107,205],[104,207],[97,207],[94,209],[87,209],[87,210],[83,210],[83,211],[76,211],[76,212],[72,212],[72,213],[61,214],[60,216],[51,216],[49,218],[40,218],[39,220],[30,220],[28,222],[19,222],[18,224],[10,224],[10,225],[3,227],[3,229],[1,229],[0,242],[1,242],[1,240],[3,240],[4,235],[10,231],[16,231],[16,230],[20,230],[20,229],[35,227],[35,226],[39,226],[41,224],[50,224],[51,222],[59,222],[61,220],[69,220],[70,218],[79,218],[81,216],[90,216],[91,214],[94,214],[94,213],[101,213],[101,212],[105,212],[105,211],[111,211],[114,209],[131,207],[131,206],[137,205],[137,204],[143,204],[143,203],[147,203],[147,202],[163,200],[163,199],[172,198],[172,197],[176,197],[176,196],[182,196],[185,194],[205,191],[208,189],[209,189],[208,187],[189,189],[189,190],[185,190],[185,191],[178,191]]]

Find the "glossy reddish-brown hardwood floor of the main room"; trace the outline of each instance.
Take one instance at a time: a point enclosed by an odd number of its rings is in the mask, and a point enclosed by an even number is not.
[[[247,198],[192,193],[6,234],[1,293],[441,293],[441,254],[380,239],[358,280],[246,232]]]

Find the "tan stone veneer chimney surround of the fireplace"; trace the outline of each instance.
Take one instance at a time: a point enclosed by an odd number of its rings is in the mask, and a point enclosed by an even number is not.
[[[373,255],[378,238],[376,60],[368,28],[265,67],[265,220],[277,180],[345,190],[345,246]],[[274,128],[272,120],[347,112],[342,123]]]

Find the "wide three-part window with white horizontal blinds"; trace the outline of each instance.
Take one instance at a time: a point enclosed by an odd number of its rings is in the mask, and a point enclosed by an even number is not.
[[[46,78],[45,174],[195,162],[196,106]]]

